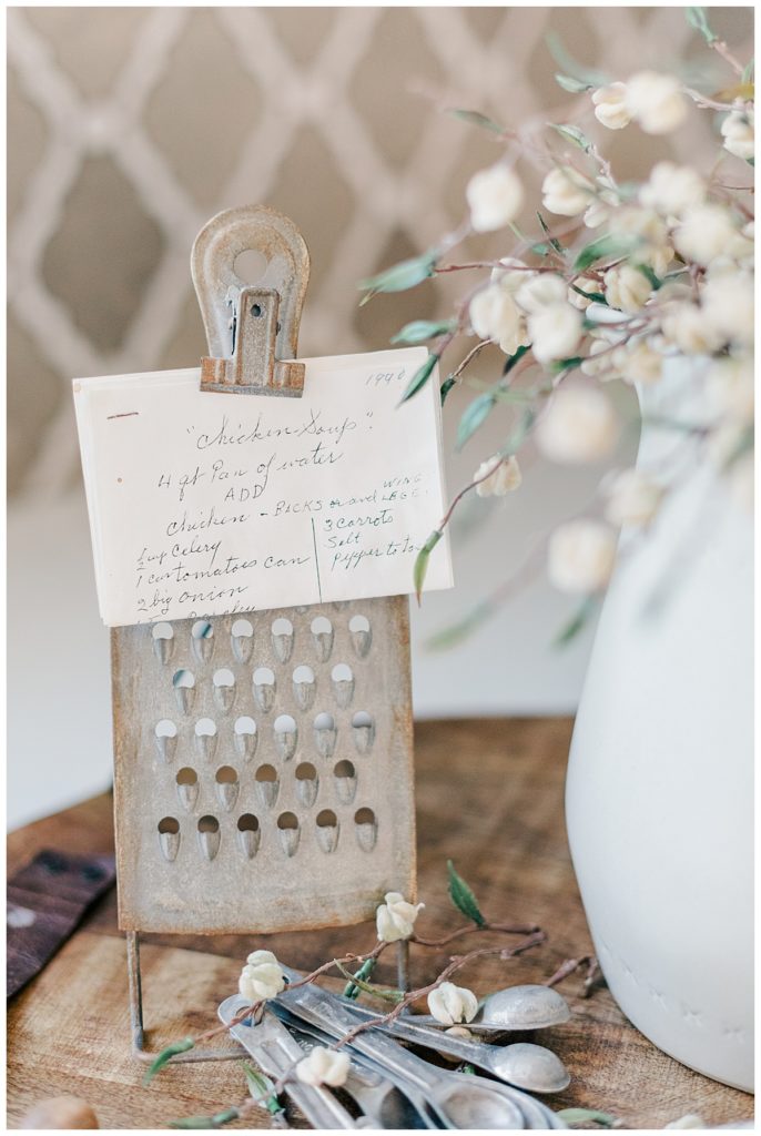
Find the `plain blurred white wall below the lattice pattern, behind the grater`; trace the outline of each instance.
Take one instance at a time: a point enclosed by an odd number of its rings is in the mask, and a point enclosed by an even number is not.
[[[457,392],[445,415],[450,493],[502,437],[495,419],[463,454],[452,456],[467,396]],[[425,595],[419,610],[412,601],[418,718],[574,710],[591,634],[552,648],[575,604],[552,591],[543,570],[462,645],[434,653],[426,642],[499,585],[532,537],[584,508],[599,474],[527,461],[518,493],[499,502],[474,496],[460,513],[457,587]],[[104,788],[111,735],[108,632],[98,616],[82,491],[14,502],[8,550],[8,819],[15,827]]]

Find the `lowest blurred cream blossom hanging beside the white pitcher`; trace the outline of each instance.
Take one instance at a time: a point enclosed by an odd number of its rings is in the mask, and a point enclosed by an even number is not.
[[[560,592],[600,592],[616,563],[616,533],[597,520],[569,520],[554,531],[547,549],[547,575]]]

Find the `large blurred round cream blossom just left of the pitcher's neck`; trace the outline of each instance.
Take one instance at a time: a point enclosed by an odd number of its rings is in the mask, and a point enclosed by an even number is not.
[[[607,458],[619,434],[610,399],[594,386],[561,386],[540,418],[535,438],[545,458],[580,465]]]

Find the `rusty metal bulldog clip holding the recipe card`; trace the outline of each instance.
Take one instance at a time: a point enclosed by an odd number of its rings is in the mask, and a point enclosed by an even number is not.
[[[250,249],[267,261],[256,285],[235,270]],[[309,253],[293,222],[266,206],[217,214],[195,239],[191,273],[210,351],[201,360],[201,390],[299,398],[304,366],[292,360]]]

